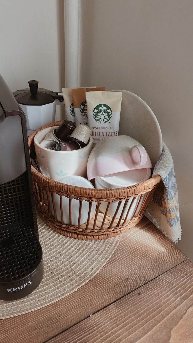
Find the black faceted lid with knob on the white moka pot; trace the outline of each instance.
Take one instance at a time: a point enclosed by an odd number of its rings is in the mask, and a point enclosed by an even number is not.
[[[38,81],[28,81],[30,88],[21,89],[13,93],[15,99],[19,104],[31,105],[31,106],[42,106],[53,103],[54,100],[58,99],[60,102],[64,101],[63,96],[48,91],[44,88],[38,88]]]

